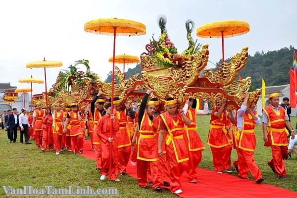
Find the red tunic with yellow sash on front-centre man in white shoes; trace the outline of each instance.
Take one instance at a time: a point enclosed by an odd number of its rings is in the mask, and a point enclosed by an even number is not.
[[[183,117],[179,114],[176,114],[176,117],[171,117],[167,111],[160,116],[168,131],[168,134],[166,134],[166,146],[174,150],[178,163],[188,161],[189,152],[184,139],[185,127]]]

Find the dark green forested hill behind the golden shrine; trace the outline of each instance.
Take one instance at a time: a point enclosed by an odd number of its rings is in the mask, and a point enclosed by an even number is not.
[[[289,84],[289,68],[293,67],[293,49],[290,46],[266,53],[257,51],[253,56],[248,55],[247,65],[239,75],[243,78],[251,77],[251,90],[261,88],[262,78],[266,86]],[[135,68],[129,68],[126,78],[137,73],[141,73],[140,64]],[[111,72],[107,75],[105,82],[111,82]]]

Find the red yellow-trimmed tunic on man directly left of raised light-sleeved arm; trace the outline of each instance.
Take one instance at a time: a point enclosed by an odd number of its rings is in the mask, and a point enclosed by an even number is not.
[[[218,109],[211,111],[210,115],[210,130],[208,133],[207,144],[210,147],[221,148],[230,145],[227,137],[227,130],[225,124],[227,121],[227,111],[223,111],[220,117],[214,116]]]

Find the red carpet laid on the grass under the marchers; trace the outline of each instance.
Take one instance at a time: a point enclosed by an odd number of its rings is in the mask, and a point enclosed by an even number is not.
[[[95,160],[91,142],[85,141],[86,158]],[[127,173],[136,178],[136,166],[128,163]],[[191,184],[184,174],[181,177],[183,193],[181,198],[297,198],[297,193],[267,184],[255,184],[228,174],[197,168],[198,184]]]

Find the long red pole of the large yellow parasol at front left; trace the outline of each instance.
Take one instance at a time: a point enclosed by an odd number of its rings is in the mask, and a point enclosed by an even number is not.
[[[113,114],[113,97],[114,97],[114,62],[115,62],[115,37],[116,37],[116,27],[113,27],[113,54],[112,54],[112,75],[111,75],[111,114]],[[113,136],[113,125],[112,120],[110,124],[110,137]],[[111,171],[112,163],[112,143],[109,143],[109,176]]]

